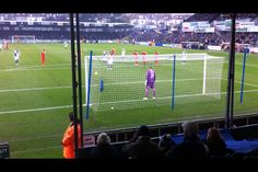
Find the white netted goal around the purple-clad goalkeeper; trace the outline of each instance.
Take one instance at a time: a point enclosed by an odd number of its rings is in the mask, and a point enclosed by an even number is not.
[[[85,57],[85,93],[94,112],[172,105],[173,96],[176,104],[221,98],[223,57],[172,54],[112,56],[112,59],[110,68],[110,56],[92,56],[92,60]],[[155,71],[155,98],[153,90],[149,90],[146,100],[145,74],[150,66]]]

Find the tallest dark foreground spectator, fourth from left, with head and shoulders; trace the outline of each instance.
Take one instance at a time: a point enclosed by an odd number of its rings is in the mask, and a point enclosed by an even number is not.
[[[166,153],[166,158],[203,159],[208,158],[209,149],[198,137],[198,126],[195,122],[183,124],[184,141]]]

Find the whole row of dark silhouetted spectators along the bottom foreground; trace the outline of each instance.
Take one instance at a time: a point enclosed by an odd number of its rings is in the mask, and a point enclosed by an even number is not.
[[[106,133],[97,136],[97,145],[86,156],[90,159],[207,159],[218,158],[233,152],[226,148],[226,144],[215,127],[208,130],[207,138],[201,140],[198,136],[199,128],[195,122],[183,124],[184,140],[176,144],[172,135],[165,134],[155,142],[150,137],[150,129],[142,125],[134,133],[128,144],[118,150],[110,144]]]

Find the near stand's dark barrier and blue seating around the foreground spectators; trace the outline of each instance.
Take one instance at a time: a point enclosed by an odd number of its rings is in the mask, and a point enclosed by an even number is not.
[[[247,117],[247,116],[246,116]],[[245,123],[244,123],[245,122]],[[258,115],[254,115],[253,117],[248,116],[247,118],[244,117],[236,117],[234,119],[234,124],[243,125],[232,129],[224,129],[223,119],[211,119],[211,121],[199,121],[198,128],[200,131],[198,136],[201,140],[207,138],[207,131],[210,127],[218,127],[220,128],[220,133],[222,138],[225,140],[226,144],[226,151],[222,156],[213,157],[213,158],[230,158],[230,159],[244,159],[248,157],[257,157],[258,150],[258,136],[257,136],[257,127],[258,127]],[[246,125],[250,124],[250,125]],[[150,136],[154,142],[159,142],[160,137],[164,134],[171,134],[172,140],[178,145],[184,140],[184,134],[181,128],[181,123],[173,124],[173,125],[164,125],[163,127],[155,128],[157,126],[149,126],[150,127]],[[122,154],[122,147],[124,145],[129,142],[129,139],[133,137],[133,133],[137,128],[124,128],[117,130],[109,130],[108,135],[110,136],[112,142],[118,152],[121,153],[122,158],[126,158]],[[120,135],[119,135],[120,131]],[[91,133],[94,134],[94,133]],[[121,135],[122,134],[122,135]],[[95,134],[97,136],[97,134]],[[124,136],[124,137],[122,137]],[[120,140],[124,141],[120,141]],[[96,146],[90,146],[79,149],[79,157],[80,158],[90,158],[89,153],[92,149]]]

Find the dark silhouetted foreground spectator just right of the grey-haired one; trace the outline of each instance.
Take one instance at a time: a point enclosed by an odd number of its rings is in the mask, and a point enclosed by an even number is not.
[[[157,145],[149,136],[148,126],[140,126],[131,141],[122,147],[126,157],[131,159],[161,158]]]

